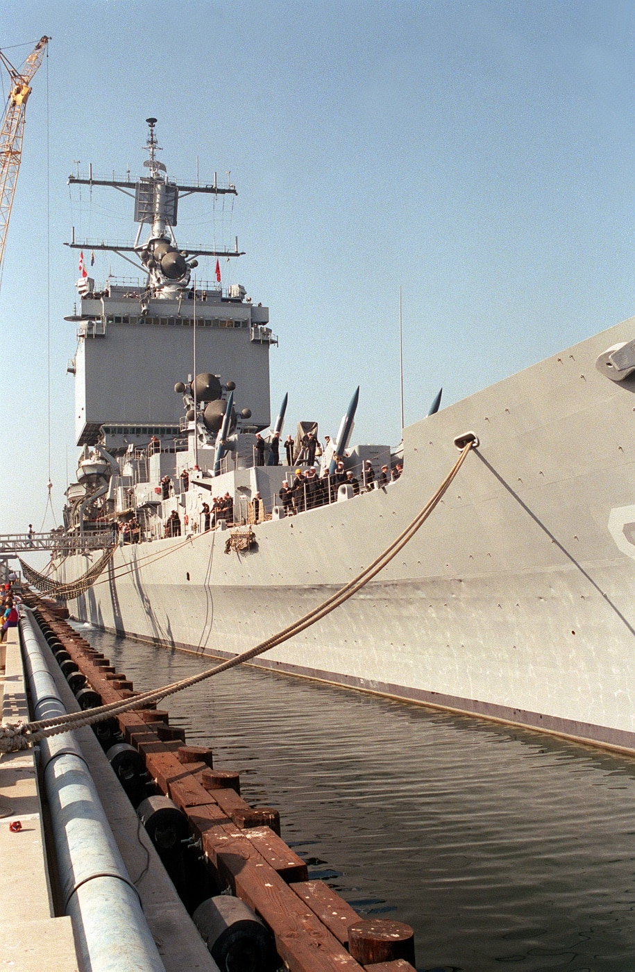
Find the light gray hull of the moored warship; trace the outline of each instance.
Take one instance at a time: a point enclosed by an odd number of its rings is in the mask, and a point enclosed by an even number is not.
[[[479,449],[384,572],[256,663],[635,749],[635,376],[595,367],[633,337],[630,319],[418,422],[397,482],[260,524],[249,553],[226,554],[221,531],[119,547],[70,607],[132,638],[245,650],[374,560],[473,431]]]

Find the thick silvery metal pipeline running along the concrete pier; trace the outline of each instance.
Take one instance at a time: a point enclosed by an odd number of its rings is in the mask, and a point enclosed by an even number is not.
[[[21,632],[35,718],[64,714],[28,611]],[[62,904],[73,920],[82,968],[165,972],[80,746],[72,733],[61,733],[44,739],[40,751]]]

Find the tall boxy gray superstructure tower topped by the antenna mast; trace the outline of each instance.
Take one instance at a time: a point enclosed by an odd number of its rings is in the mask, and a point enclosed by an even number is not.
[[[110,187],[134,199],[138,232],[133,244],[75,239],[68,244],[83,256],[116,253],[145,274],[142,283],[111,277],[95,286],[82,259],[80,313],[67,318],[78,325],[78,347],[69,363],[75,373],[78,445],[100,443],[116,452],[131,444],[146,446],[152,435],[183,432],[174,385],[191,376],[194,355],[213,363],[225,381],[235,382],[240,429],[258,431],[270,421],[269,348],[276,338],[268,327],[268,308],[254,306],[241,285],[223,291],[218,281],[194,283],[197,258],[239,257],[238,240],[233,250],[216,250],[181,247],[175,235],[180,198],[235,194],[236,188],[221,187],[216,178],[209,185],[171,182],[156,157],[155,121],[148,120],[148,175],[136,183],[129,177],[93,178],[92,171],[85,178],[69,177],[71,185]],[[251,415],[243,418],[240,413],[248,408]]]

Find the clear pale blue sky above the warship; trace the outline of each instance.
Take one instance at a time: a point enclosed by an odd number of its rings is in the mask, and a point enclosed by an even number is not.
[[[16,66],[43,34],[0,288],[1,533],[59,523],[74,479],[63,244],[136,231],[68,175],[140,174],[150,116],[172,177],[237,187],[183,200],[178,239],[238,235],[223,286],[270,308],[286,431],[335,434],[359,385],[353,442],[398,444],[400,289],[406,425],[635,312],[631,0],[3,0]]]

